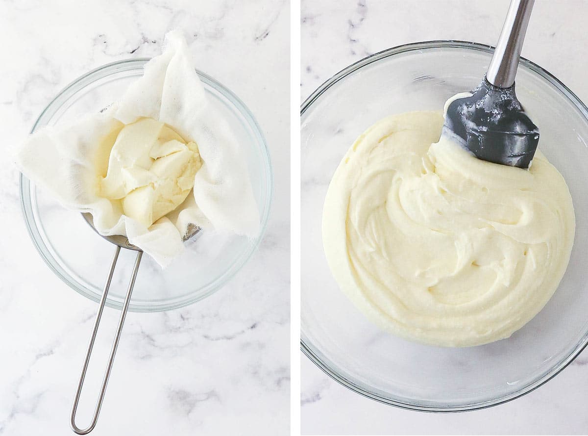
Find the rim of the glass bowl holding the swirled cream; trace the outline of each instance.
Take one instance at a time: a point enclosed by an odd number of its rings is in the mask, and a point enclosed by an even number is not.
[[[380,61],[381,59],[389,58],[390,56],[407,53],[411,51],[419,51],[419,50],[429,50],[429,49],[439,49],[439,48],[458,48],[458,49],[466,49],[472,50],[476,52],[484,52],[487,54],[491,54],[495,47],[492,45],[480,44],[479,42],[472,42],[472,41],[460,41],[456,39],[438,39],[433,41],[420,41],[420,42],[411,42],[409,44],[398,45],[392,48],[387,48],[380,52],[377,52],[373,55],[366,56],[365,58],[360,59],[359,61],[354,62],[353,64],[346,66],[341,71],[327,79],[323,84],[321,84],[315,91],[312,92],[308,96],[308,98],[303,101],[302,105],[300,105],[300,123],[302,124],[302,118],[305,112],[312,106],[313,102],[316,101],[324,92],[326,92],[331,86],[335,85],[337,82],[344,79],[346,76],[352,74],[353,72],[363,68],[364,66],[370,65],[373,62]],[[559,89],[560,93],[565,96],[577,109],[582,113],[584,118],[588,121],[588,107],[582,102],[580,98],[574,92],[572,92],[566,85],[564,85],[559,79],[556,78],[553,74],[551,74],[546,69],[542,68],[541,66],[535,64],[529,59],[520,58],[520,65],[525,66],[527,69],[530,69],[534,73],[542,76],[542,78],[549,81],[552,85],[554,85],[557,89]],[[369,390],[366,387],[360,385],[359,382],[353,380],[352,377],[348,377],[340,371],[332,361],[326,358],[322,352],[320,352],[317,348],[313,347],[312,343],[308,338],[305,337],[305,334],[300,330],[300,350],[306,357],[309,358],[317,367],[320,368],[326,375],[330,378],[339,382],[339,384],[345,386],[349,390],[356,392],[357,394],[362,395],[366,398],[371,398],[377,402],[381,402],[383,404],[392,405],[395,407],[403,408],[406,410],[413,410],[413,411],[420,411],[420,412],[436,412],[436,413],[451,413],[451,412],[466,412],[466,411],[473,411],[473,410],[481,410],[489,407],[494,407],[496,405],[504,404],[506,402],[515,400],[516,398],[522,397],[523,395],[529,394],[536,390],[537,388],[544,385],[549,380],[552,380],[557,374],[562,372],[567,365],[571,364],[574,359],[586,348],[588,345],[588,331],[584,333],[582,340],[580,340],[576,347],[570,351],[566,357],[562,360],[557,362],[553,365],[550,370],[544,372],[542,375],[537,377],[534,381],[531,381],[521,387],[519,390],[513,392],[509,395],[504,395],[502,397],[497,397],[493,400],[487,401],[479,401],[479,402],[465,402],[464,404],[459,405],[452,405],[452,406],[430,406],[430,405],[423,405],[423,404],[416,404],[416,402],[407,401],[406,398],[400,397],[393,397],[393,395],[385,394],[385,392],[380,391],[381,393],[378,394],[374,392],[375,390]]]

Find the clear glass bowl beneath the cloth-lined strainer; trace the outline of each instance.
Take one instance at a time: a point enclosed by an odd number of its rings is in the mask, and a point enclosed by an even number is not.
[[[39,116],[32,132],[45,125],[98,112],[119,98],[143,74],[149,59],[129,59],[101,66],[59,92]],[[185,254],[161,269],[144,256],[129,310],[163,311],[192,304],[222,287],[258,247],[272,201],[268,147],[248,108],[225,86],[198,71],[209,101],[225,116],[240,139],[249,167],[261,225],[252,239],[201,231],[186,242]],[[99,301],[115,246],[96,234],[81,214],[69,211],[21,175],[22,210],[29,234],[49,268],[80,294]],[[135,252],[123,249],[106,304],[121,308]]]

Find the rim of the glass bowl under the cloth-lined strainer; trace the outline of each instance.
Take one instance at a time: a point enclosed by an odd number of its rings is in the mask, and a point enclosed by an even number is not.
[[[31,128],[31,134],[39,128],[39,124],[42,121],[45,121],[45,117],[48,114],[51,114],[51,109],[58,110],[64,102],[68,101],[72,95],[75,95],[77,92],[81,91],[85,86],[92,84],[95,81],[103,79],[105,77],[117,74],[119,72],[126,72],[126,71],[139,71],[143,69],[143,66],[149,62],[151,58],[131,58],[131,59],[122,59],[120,61],[109,62],[108,64],[104,64],[98,66],[98,68],[92,69],[85,74],[82,74],[78,78],[74,79],[74,81],[70,82],[64,88],[59,91],[53,99],[45,106],[42,110],[39,117],[33,124]],[[229,268],[225,272],[225,274],[220,275],[218,278],[214,279],[209,284],[205,285],[206,289],[205,292],[201,292],[200,294],[194,295],[195,292],[192,292],[189,295],[185,295],[181,298],[174,298],[170,299],[169,301],[155,301],[152,304],[133,304],[131,300],[131,304],[129,305],[129,311],[133,312],[161,312],[171,309],[177,309],[181,307],[185,307],[187,305],[193,304],[201,299],[209,297],[210,295],[214,294],[220,288],[222,288],[227,282],[232,279],[237,272],[249,261],[250,257],[252,257],[253,253],[259,247],[260,241],[263,239],[265,235],[268,221],[269,221],[269,214],[272,206],[273,201],[273,168],[272,162],[270,158],[270,152],[268,148],[268,144],[266,139],[263,135],[263,131],[259,126],[258,121],[255,119],[255,116],[249,110],[249,108],[243,103],[243,101],[229,88],[225,85],[221,84],[219,81],[214,79],[212,76],[196,69],[196,73],[198,74],[201,81],[211,86],[216,92],[219,92],[224,98],[226,98],[230,104],[232,104],[235,108],[235,111],[238,112],[243,119],[245,120],[246,124],[248,125],[250,131],[252,132],[253,136],[255,137],[255,142],[258,144],[260,154],[262,155],[263,159],[263,167],[266,169],[265,174],[265,192],[263,195],[265,197],[265,204],[263,204],[263,212],[260,214],[260,228],[258,235],[251,239],[249,244],[247,245],[246,249],[238,255],[238,257],[230,264]],[[55,106],[55,107],[54,107]],[[50,115],[52,116],[52,115]],[[41,126],[42,127],[42,126]],[[86,298],[91,299],[92,301],[99,302],[101,295],[96,294],[95,292],[87,289],[83,284],[76,281],[75,278],[71,277],[67,271],[62,269],[58,264],[55,262],[54,256],[51,254],[51,251],[46,247],[45,242],[41,237],[41,232],[39,232],[38,225],[36,224],[34,218],[34,211],[32,210],[32,201],[30,195],[31,181],[25,177],[22,172],[19,172],[19,197],[21,200],[21,211],[25,221],[25,226],[28,231],[29,237],[41,258],[45,261],[45,264],[57,275],[65,284],[67,284],[70,288],[74,289],[79,294],[83,295]],[[105,269],[106,272],[106,269]],[[112,297],[108,297],[106,299],[106,305],[108,307],[112,307],[115,309],[122,308],[122,299],[113,299]]]

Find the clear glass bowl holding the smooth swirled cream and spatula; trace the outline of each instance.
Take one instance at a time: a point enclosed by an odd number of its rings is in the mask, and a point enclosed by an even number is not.
[[[529,324],[506,340],[470,348],[396,338],[345,297],[323,254],[323,200],[353,141],[387,115],[439,110],[449,96],[475,88],[492,51],[459,41],[388,49],[339,72],[302,105],[302,351],[336,381],[386,404],[434,412],[500,404],[552,378],[588,341],[588,221],[583,219],[588,214],[588,109],[526,59],[520,62],[517,95],[540,128],[539,148],[566,179],[578,217],[566,274]]]

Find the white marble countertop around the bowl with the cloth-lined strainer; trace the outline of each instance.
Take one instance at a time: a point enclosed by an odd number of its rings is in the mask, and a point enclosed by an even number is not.
[[[279,195],[259,251],[225,288],[183,309],[129,313],[92,434],[288,434],[288,2],[0,0],[0,151],[26,137],[66,84],[108,62],[159,54],[172,28],[186,32],[198,68],[255,114]],[[11,160],[0,159],[0,435],[73,434],[69,410],[97,305],[37,254]],[[116,319],[105,310],[96,356],[108,354]],[[88,377],[101,378],[104,360]]]

